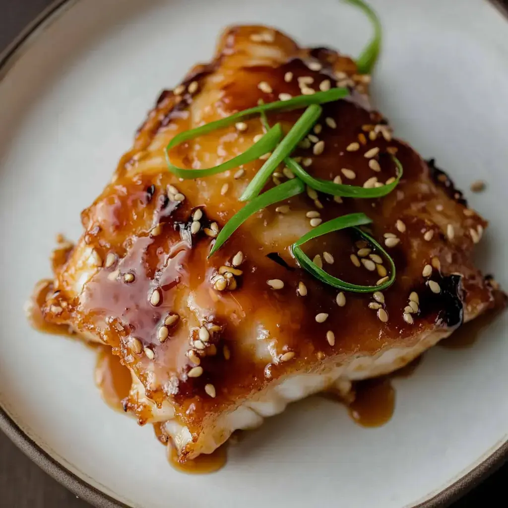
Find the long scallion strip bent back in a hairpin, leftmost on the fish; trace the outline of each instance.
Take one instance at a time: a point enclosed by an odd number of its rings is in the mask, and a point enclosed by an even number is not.
[[[205,134],[208,134],[210,132],[216,131],[217,129],[223,129],[224,127],[227,127],[231,125],[232,123],[236,123],[237,121],[244,119],[248,116],[256,115],[265,111],[273,111],[273,110],[291,110],[291,109],[299,109],[299,108],[305,108],[306,106],[312,105],[312,104],[325,104],[327,102],[333,102],[337,101],[338,99],[342,99],[343,97],[346,97],[349,91],[347,88],[332,88],[331,90],[328,90],[326,92],[316,92],[312,95],[301,95],[297,97],[293,97],[289,101],[276,101],[276,102],[270,102],[268,104],[260,104],[259,106],[256,106],[254,108],[245,109],[243,111],[239,111],[238,113],[234,113],[233,115],[227,116],[226,118],[223,118],[221,120],[216,120],[214,122],[205,123],[205,125],[201,125],[200,127],[197,127],[196,129],[190,129],[189,131],[182,132],[180,134],[177,134],[168,144],[166,147],[166,161],[168,163],[169,170],[174,173],[179,178],[199,178],[201,176],[210,176],[214,175],[216,173],[220,173],[222,171],[226,171],[228,169],[232,169],[234,167],[238,167],[241,164],[245,164],[247,162],[253,161],[256,158],[260,157],[261,155],[264,155],[265,153],[268,153],[269,151],[272,151],[276,146],[278,140],[275,142],[276,134],[278,130],[280,129],[275,126],[276,131],[272,132],[271,136],[268,139],[265,139],[268,135],[265,134],[263,139],[258,141],[258,143],[261,143],[259,145],[256,143],[252,147],[250,147],[248,150],[246,150],[243,154],[238,155],[237,157],[234,157],[230,161],[227,161],[223,164],[220,164],[218,166],[215,166],[213,168],[206,168],[206,169],[184,169],[184,168],[178,168],[177,166],[174,166],[171,163],[171,159],[169,156],[169,150],[174,148],[175,146],[178,146],[179,144],[189,140],[197,138],[198,136],[203,136]],[[281,131],[280,131],[281,132]],[[270,147],[271,148],[267,148]],[[264,149],[265,151],[261,151]],[[248,156],[245,156],[245,154],[248,153]],[[257,155],[256,155],[257,154]],[[255,156],[256,155],[256,156]],[[251,157],[251,158],[250,158]],[[240,162],[243,161],[243,162]]]

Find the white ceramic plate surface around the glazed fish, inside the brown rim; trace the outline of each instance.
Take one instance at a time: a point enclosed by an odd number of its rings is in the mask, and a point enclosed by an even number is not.
[[[489,182],[467,197],[491,221],[479,262],[506,288],[508,24],[485,0],[372,4],[385,28],[375,103],[459,188]],[[103,403],[91,351],[25,320],[34,282],[49,275],[55,234],[78,238],[80,211],[158,93],[209,59],[220,29],[239,22],[272,24],[302,44],[353,55],[370,35],[364,17],[336,0],[87,0],[57,9],[4,65],[0,404],[56,462],[129,506],[424,502],[499,455],[507,439],[507,313],[472,348],[437,348],[414,376],[396,380],[395,415],[384,427],[360,428],[340,405],[310,399],[247,435],[226,468],[200,477],[173,470],[151,427]]]

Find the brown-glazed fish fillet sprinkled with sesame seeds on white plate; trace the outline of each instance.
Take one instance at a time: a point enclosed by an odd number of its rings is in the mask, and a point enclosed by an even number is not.
[[[161,94],[113,179],[82,213],[77,244],[55,251],[45,320],[112,348],[133,377],[125,410],[140,424],[159,422],[182,461],[211,453],[235,429],[256,427],[291,401],[331,387],[346,394],[353,380],[402,367],[493,305],[491,285],[471,261],[486,221],[432,161],[392,137],[370,105],[368,82],[335,51],[300,48],[264,26],[227,29],[211,63]],[[168,142],[260,100],[336,86],[350,96],[323,105],[293,156],[315,177],[368,187],[395,177],[396,154],[399,185],[378,199],[308,189],[252,215],[208,258],[264,161],[180,181],[167,168]],[[287,132],[301,113],[274,112],[269,121]],[[179,145],[172,161],[208,168],[263,132],[252,117]],[[293,177],[281,166],[267,188]],[[372,236],[395,262],[395,282],[382,293],[341,293],[291,254],[320,221],[352,212],[373,219]],[[348,282],[376,285],[389,271],[351,230],[305,250]]]

